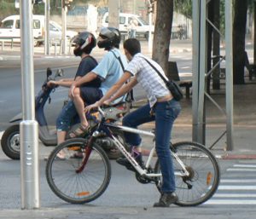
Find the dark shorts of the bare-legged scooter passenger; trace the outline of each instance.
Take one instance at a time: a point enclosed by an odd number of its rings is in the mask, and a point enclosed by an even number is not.
[[[93,87],[80,87],[80,96],[86,105],[90,105],[99,101],[103,94],[102,90]]]

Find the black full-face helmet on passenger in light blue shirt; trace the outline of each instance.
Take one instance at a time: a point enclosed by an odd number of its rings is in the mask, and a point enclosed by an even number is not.
[[[100,34],[102,39],[98,41],[99,48],[111,49],[113,46],[119,48],[121,42],[121,34],[118,29],[113,27],[103,27]]]

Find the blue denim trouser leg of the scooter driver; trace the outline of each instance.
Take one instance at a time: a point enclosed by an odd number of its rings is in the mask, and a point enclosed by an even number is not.
[[[62,108],[56,120],[57,131],[70,130],[71,125],[79,123],[79,114],[73,101],[68,101],[67,104]]]

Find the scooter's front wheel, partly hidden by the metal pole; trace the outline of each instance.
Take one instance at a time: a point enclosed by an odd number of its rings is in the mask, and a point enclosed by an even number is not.
[[[1,146],[9,158],[20,159],[20,125],[15,124],[4,131]]]

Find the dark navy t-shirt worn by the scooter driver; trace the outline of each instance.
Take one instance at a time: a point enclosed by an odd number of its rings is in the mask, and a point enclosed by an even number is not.
[[[86,75],[87,73],[91,72],[91,70],[93,70],[96,66],[97,66],[97,61],[96,59],[94,59],[93,57],[86,56],[84,57],[84,59],[82,59],[79,63],[79,68],[78,71],[76,73],[75,78],[77,77],[83,77],[84,75]],[[95,88],[99,88],[102,84],[102,81],[100,78],[96,78],[93,81],[90,81],[88,83],[82,84],[82,87],[87,86],[87,87],[95,87]]]

